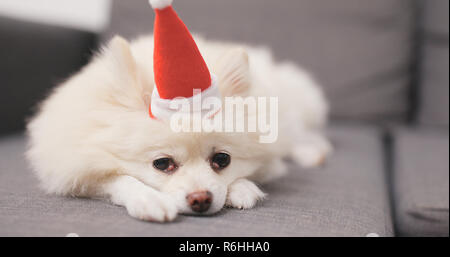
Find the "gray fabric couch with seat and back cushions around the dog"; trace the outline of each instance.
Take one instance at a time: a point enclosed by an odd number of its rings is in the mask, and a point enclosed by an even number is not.
[[[290,173],[264,186],[269,197],[254,209],[154,224],[104,201],[45,195],[22,132],[9,131],[0,138],[0,236],[449,235],[447,0],[174,5],[194,32],[267,45],[310,70],[331,103],[335,154],[315,170],[288,161]],[[152,23],[147,1],[114,1],[100,41],[151,32]]]

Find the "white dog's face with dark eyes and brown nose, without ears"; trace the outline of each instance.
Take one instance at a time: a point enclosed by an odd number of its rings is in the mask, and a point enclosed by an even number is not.
[[[228,186],[267,161],[252,136],[165,130],[153,134],[147,149],[121,165],[127,174],[172,196],[181,213],[219,211]]]

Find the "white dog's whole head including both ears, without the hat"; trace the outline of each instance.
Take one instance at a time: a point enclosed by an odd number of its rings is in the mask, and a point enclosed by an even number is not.
[[[105,62],[112,72],[108,103],[114,110],[103,121],[98,140],[117,163],[117,171],[172,196],[181,213],[211,214],[225,204],[228,186],[270,160],[270,147],[257,133],[174,132],[149,118],[150,67],[135,60],[128,42],[115,38]],[[223,96],[246,95],[251,88],[249,62],[242,49],[230,50],[211,65]],[[226,120],[224,122],[227,122]]]

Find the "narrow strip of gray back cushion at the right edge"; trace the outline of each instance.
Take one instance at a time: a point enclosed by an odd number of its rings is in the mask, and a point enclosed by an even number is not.
[[[449,1],[424,1],[419,121],[449,125]]]

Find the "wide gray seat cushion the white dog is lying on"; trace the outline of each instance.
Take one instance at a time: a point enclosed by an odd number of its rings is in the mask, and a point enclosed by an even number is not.
[[[45,195],[23,158],[23,136],[3,138],[0,236],[392,236],[378,130],[337,126],[329,134],[336,153],[328,163],[309,171],[290,163],[256,208],[168,224],[135,220],[102,200]]]

